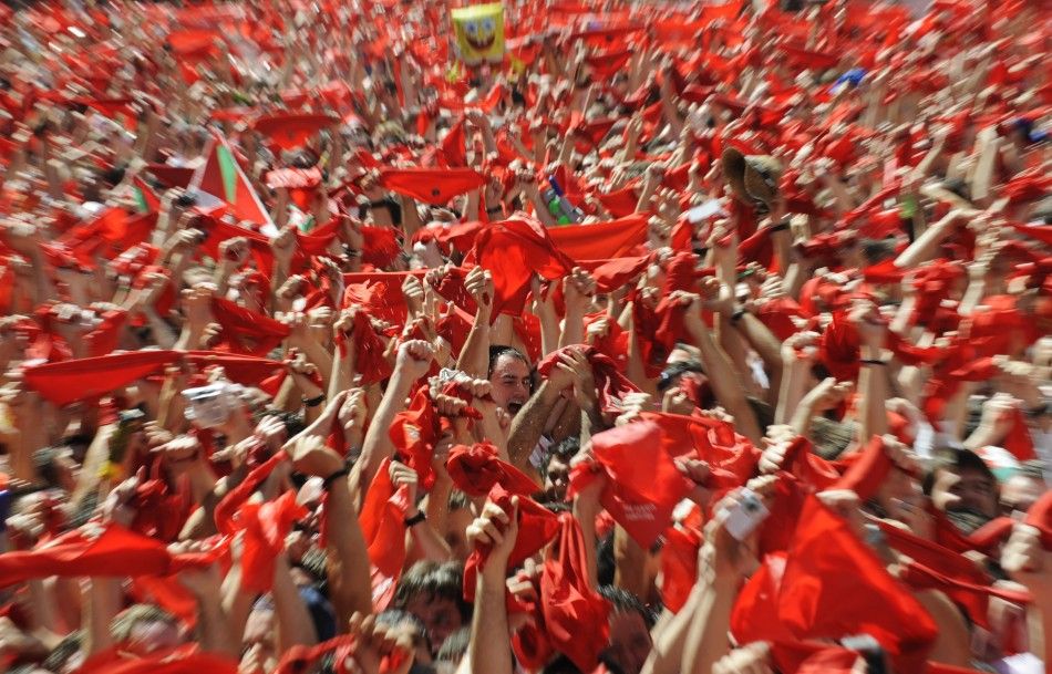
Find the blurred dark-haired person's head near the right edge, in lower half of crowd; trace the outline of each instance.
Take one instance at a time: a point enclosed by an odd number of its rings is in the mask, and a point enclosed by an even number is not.
[[[982,526],[998,515],[997,478],[979,455],[968,449],[940,453],[925,477],[925,494],[931,502],[961,526],[971,516]]]

